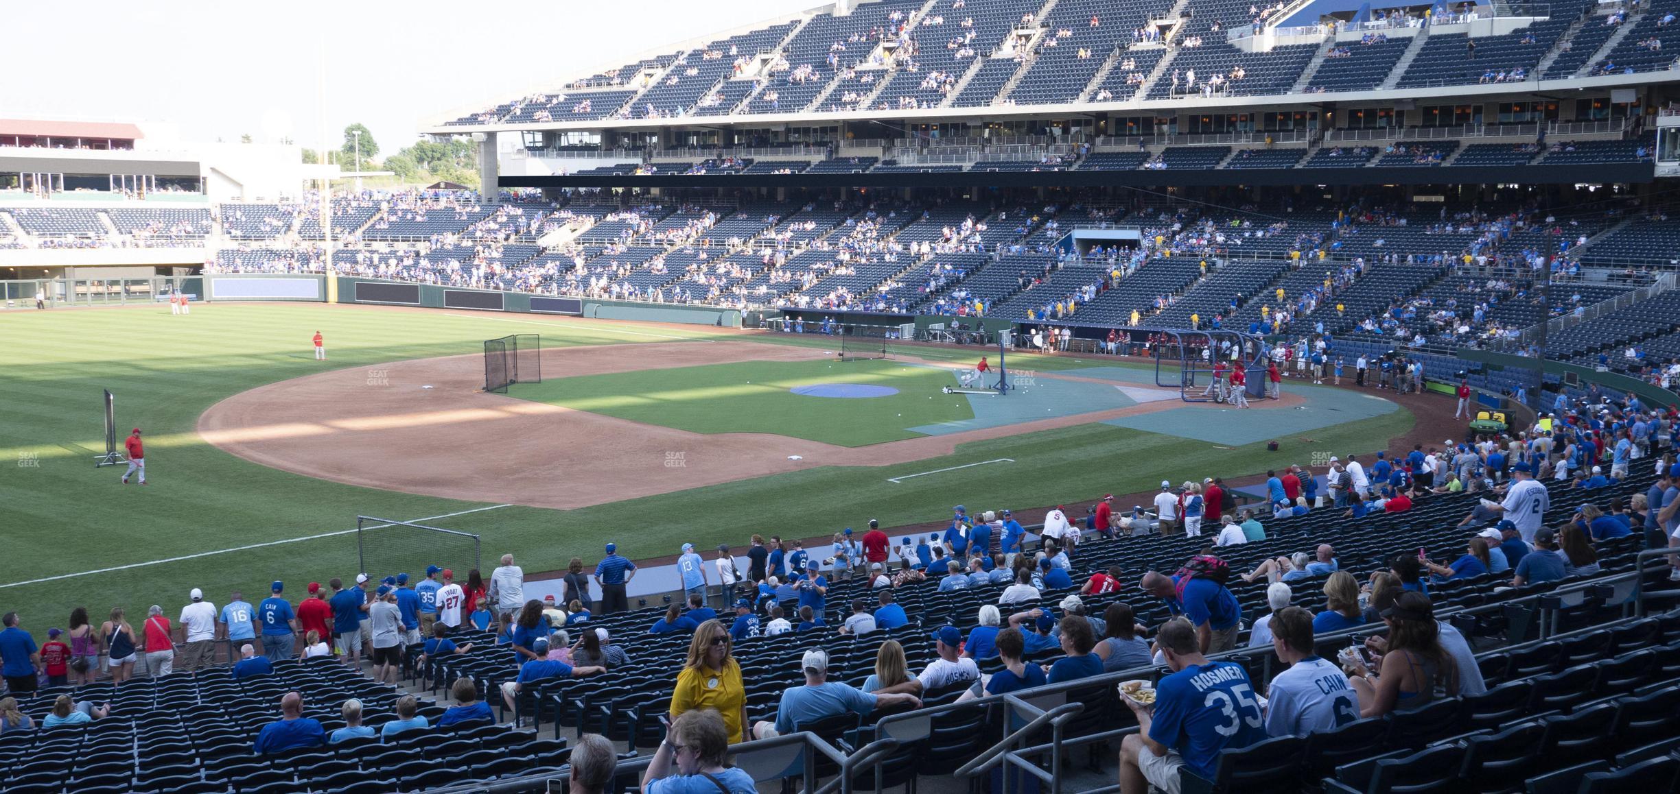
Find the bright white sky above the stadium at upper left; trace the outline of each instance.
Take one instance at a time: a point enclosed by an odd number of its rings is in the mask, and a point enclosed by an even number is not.
[[[0,118],[155,121],[185,141],[321,139],[360,121],[393,153],[420,119],[822,0],[7,3]],[[324,32],[324,35],[323,35]],[[338,136],[341,133],[334,133]]]

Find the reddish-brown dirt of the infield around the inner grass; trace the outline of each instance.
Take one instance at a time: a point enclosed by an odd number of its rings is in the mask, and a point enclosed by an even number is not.
[[[822,358],[813,347],[746,341],[613,344],[544,349],[543,371],[581,376]],[[487,394],[477,391],[482,383],[480,354],[336,369],[234,394],[198,418],[198,433],[245,460],[306,477],[570,510],[813,467],[906,463],[949,455],[966,441],[1186,406],[1171,400],[848,448],[769,433],[690,433]],[[1282,401],[1257,401],[1255,411],[1300,401],[1285,393]]]

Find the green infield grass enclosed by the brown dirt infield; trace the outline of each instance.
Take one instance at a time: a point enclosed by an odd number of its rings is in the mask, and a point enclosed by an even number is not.
[[[822,398],[788,391],[820,383],[889,386],[880,398]],[[694,433],[776,433],[842,447],[921,438],[906,428],[971,420],[946,369],[894,361],[738,361],[640,369],[516,384],[511,396]],[[929,400],[932,398],[932,400]]]

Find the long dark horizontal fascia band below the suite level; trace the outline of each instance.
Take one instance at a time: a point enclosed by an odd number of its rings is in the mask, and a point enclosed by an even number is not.
[[[984,165],[984,163],[981,163]],[[1650,163],[1567,166],[1211,168],[1196,171],[749,173],[501,176],[504,188],[1092,188],[1273,185],[1620,185],[1655,180]]]

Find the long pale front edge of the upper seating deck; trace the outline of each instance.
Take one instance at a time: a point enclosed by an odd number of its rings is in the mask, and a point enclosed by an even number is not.
[[[1151,99],[1126,102],[1079,102],[1079,104],[1033,104],[1033,106],[981,106],[981,107],[932,107],[904,111],[843,111],[843,112],[778,112],[751,116],[680,116],[659,119],[595,119],[595,121],[554,121],[554,123],[519,123],[519,124],[432,124],[420,131],[423,134],[470,134],[470,133],[524,133],[524,131],[576,131],[576,129],[664,129],[664,128],[778,128],[778,126],[835,126],[842,123],[892,121],[907,124],[926,123],[971,123],[1043,119],[1074,116],[1132,116],[1154,112],[1258,112],[1265,109],[1315,107],[1324,104],[1337,106],[1373,106],[1384,102],[1462,102],[1468,99],[1497,101],[1532,97],[1537,94],[1562,97],[1583,91],[1609,91],[1626,87],[1645,87],[1655,84],[1680,82],[1680,71],[1643,72],[1643,74],[1606,74],[1598,77],[1572,77],[1561,81],[1524,81],[1494,82],[1470,86],[1430,86],[1415,89],[1389,91],[1341,91],[1336,94],[1273,94],[1273,96],[1236,96],[1236,97],[1186,97],[1186,99]],[[585,94],[578,94],[585,97]]]

